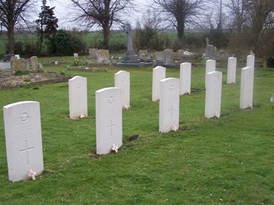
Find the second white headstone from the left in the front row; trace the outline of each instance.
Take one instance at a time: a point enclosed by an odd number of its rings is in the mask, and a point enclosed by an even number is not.
[[[96,150],[97,154],[109,154],[122,142],[122,90],[106,87],[95,92],[96,101]]]

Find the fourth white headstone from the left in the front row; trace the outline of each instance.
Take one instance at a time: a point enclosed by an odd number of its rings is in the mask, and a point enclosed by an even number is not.
[[[213,71],[207,73],[206,81],[206,106],[205,117],[220,118],[222,96],[222,72]]]

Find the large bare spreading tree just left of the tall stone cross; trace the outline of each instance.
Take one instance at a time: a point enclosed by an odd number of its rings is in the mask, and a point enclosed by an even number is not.
[[[108,49],[110,29],[113,25],[123,25],[123,18],[133,6],[134,0],[71,0],[74,8],[79,10],[76,18],[86,28],[99,26],[103,29],[103,46]]]

